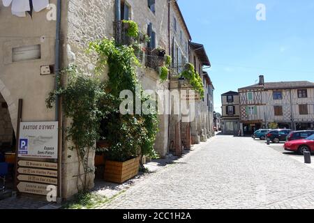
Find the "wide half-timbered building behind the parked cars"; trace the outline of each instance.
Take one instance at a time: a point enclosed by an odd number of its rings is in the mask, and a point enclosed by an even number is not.
[[[251,134],[259,128],[310,130],[314,124],[312,82],[264,82],[239,89],[241,129]]]

